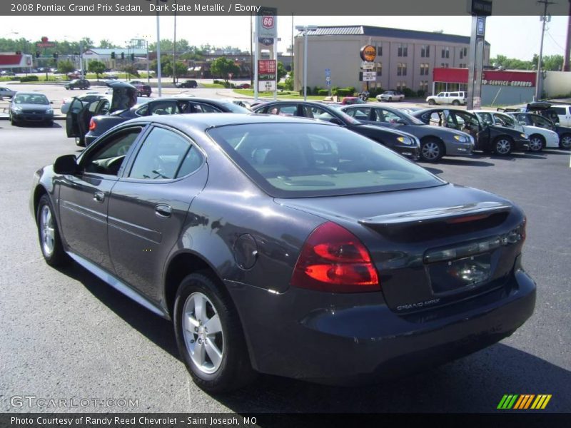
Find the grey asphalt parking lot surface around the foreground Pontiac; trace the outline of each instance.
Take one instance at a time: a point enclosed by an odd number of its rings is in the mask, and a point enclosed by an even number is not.
[[[545,411],[571,412],[570,152],[421,164],[525,210],[524,265],[537,282],[537,305],[512,337],[370,387],[263,376],[247,389],[211,397],[191,382],[168,322],[78,265],[54,270],[44,263],[29,212],[30,185],[37,168],[77,152],[64,126],[0,121],[0,412],[494,412],[503,394],[552,394]],[[136,399],[138,406],[14,406],[12,397],[22,395]]]

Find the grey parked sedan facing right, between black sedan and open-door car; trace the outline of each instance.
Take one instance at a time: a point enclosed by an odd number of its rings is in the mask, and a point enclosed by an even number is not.
[[[428,126],[404,111],[382,103],[343,106],[340,110],[363,123],[413,134],[420,140],[420,158],[425,162],[435,162],[443,156],[470,156],[474,150],[474,139],[467,133]]]

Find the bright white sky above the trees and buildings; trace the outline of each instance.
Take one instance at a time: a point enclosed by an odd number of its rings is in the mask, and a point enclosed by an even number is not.
[[[563,54],[568,26],[567,16],[552,16],[547,24],[544,55]],[[161,39],[173,38],[173,16],[161,16]],[[94,22],[96,23],[94,25]],[[191,45],[250,48],[249,16],[178,16],[176,38]],[[278,16],[278,51],[291,43],[291,16]],[[443,30],[448,34],[470,36],[471,17],[466,16],[294,16],[297,25],[370,25],[420,31]],[[14,34],[17,32],[18,34]],[[294,29],[294,35],[297,31]],[[148,36],[156,40],[155,16],[0,16],[0,37],[77,41],[82,37],[101,39],[124,46],[130,39]],[[486,40],[490,56],[530,60],[540,49],[541,22],[538,16],[490,16]]]

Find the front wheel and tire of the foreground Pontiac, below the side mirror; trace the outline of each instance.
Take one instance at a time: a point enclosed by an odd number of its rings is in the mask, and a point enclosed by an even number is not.
[[[42,195],[36,211],[38,238],[41,254],[50,266],[61,266],[69,262],[69,258],[61,244],[58,223],[54,215],[54,207],[48,195]]]

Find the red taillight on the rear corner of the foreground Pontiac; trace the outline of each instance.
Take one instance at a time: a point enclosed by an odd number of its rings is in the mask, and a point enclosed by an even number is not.
[[[365,245],[332,222],[318,226],[303,244],[291,285],[327,292],[380,290],[377,270]]]

